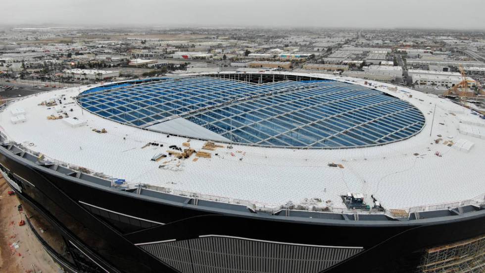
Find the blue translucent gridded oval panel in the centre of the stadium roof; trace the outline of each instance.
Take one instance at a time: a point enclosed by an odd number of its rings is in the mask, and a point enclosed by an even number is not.
[[[379,145],[408,138],[425,123],[408,102],[333,80],[255,84],[199,76],[85,92],[77,101],[130,125],[185,118],[231,142],[262,146]]]

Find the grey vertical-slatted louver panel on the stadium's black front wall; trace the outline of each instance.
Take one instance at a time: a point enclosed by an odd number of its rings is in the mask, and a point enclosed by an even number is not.
[[[362,251],[228,237],[140,245],[182,273],[317,273]]]

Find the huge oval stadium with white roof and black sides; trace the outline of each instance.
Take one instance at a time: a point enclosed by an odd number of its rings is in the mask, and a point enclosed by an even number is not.
[[[0,122],[1,174],[69,272],[485,267],[485,120],[443,97],[190,74],[39,93]]]

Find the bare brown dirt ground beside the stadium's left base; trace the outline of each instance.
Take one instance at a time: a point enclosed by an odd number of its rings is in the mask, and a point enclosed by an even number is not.
[[[16,196],[8,195],[9,190],[8,184],[0,178],[0,273],[64,272],[50,258],[28,224],[18,225],[20,203]],[[25,219],[23,213],[22,218]]]

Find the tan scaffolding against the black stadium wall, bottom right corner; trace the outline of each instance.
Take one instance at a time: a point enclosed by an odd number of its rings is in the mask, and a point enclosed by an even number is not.
[[[485,235],[427,249],[419,273],[485,272]]]

